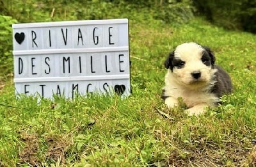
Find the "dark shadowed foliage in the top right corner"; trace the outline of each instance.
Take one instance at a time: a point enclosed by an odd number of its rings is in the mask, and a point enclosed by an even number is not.
[[[256,1],[251,0],[193,0],[196,14],[228,29],[256,33]]]

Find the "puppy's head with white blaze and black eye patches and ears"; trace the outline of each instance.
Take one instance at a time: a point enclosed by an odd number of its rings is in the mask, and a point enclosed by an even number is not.
[[[200,88],[211,83],[216,70],[215,57],[209,47],[196,43],[184,43],[170,52],[164,62],[175,81],[188,88]]]

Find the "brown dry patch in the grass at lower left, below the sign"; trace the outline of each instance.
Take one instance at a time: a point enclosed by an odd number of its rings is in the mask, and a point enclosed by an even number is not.
[[[20,132],[19,163],[28,164],[29,166],[42,166],[42,161],[45,163],[60,163],[65,164],[65,154],[68,146],[71,144],[70,138],[60,135],[41,136],[38,134],[28,134]],[[44,138],[44,139],[43,139]],[[40,145],[45,145],[46,149],[43,155],[40,155]],[[43,157],[42,157],[43,156]],[[44,159],[40,159],[40,157]]]

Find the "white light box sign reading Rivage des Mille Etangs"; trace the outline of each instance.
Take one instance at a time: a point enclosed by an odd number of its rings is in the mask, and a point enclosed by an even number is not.
[[[13,24],[18,94],[130,94],[127,19]]]

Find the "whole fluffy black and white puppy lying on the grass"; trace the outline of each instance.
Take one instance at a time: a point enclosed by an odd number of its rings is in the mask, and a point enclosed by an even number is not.
[[[177,46],[164,63],[168,69],[162,95],[165,104],[177,106],[181,97],[189,115],[216,106],[223,94],[231,93],[232,83],[227,72],[214,62],[209,47],[194,42]]]

